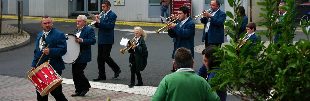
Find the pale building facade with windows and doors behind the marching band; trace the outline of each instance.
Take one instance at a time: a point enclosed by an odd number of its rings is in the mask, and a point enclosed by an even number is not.
[[[3,14],[18,15],[18,1],[23,1],[23,15],[27,16],[43,16],[60,18],[76,18],[77,15],[86,12],[99,14],[101,10],[101,2],[103,0],[3,0]],[[117,21],[133,21],[133,22],[153,22],[160,23],[160,0],[108,0],[111,2],[111,10],[116,13]],[[221,2],[220,9],[222,11],[233,11],[227,0],[219,0]],[[250,6],[252,6],[252,21],[257,23],[264,18],[259,17],[259,13],[263,6],[257,5],[256,2],[262,0],[241,0],[246,9],[246,14],[250,22]],[[252,5],[250,4],[252,1]],[[191,0],[192,16],[201,14],[202,10],[210,9],[211,0]],[[171,5],[170,5],[171,6]],[[170,7],[171,8],[171,7]],[[171,14],[171,13],[170,13]],[[227,17],[227,19],[230,19]],[[194,22],[201,24],[199,20]]]

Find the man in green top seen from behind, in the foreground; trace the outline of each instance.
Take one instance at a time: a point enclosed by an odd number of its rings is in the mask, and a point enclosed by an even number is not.
[[[219,101],[210,85],[192,69],[192,53],[186,48],[175,51],[173,64],[178,69],[166,75],[157,87],[151,101]]]

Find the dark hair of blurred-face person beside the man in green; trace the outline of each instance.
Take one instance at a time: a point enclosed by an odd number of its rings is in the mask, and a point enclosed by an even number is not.
[[[215,60],[218,60],[219,58],[213,55],[216,52],[216,50],[214,50],[213,47],[217,47],[217,46],[210,45],[205,49],[206,58],[208,59],[209,70],[212,70],[213,69],[212,67],[219,66],[221,64],[221,62],[219,61],[215,62]]]

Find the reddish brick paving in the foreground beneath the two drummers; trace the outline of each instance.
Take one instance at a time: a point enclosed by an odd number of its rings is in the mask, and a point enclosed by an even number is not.
[[[64,79],[62,86],[62,92],[68,99],[68,101],[105,101],[110,98],[111,101],[149,101],[151,96],[139,95],[133,93],[126,93],[122,91],[96,89],[96,86],[109,86],[101,83],[97,85],[91,82],[92,88],[87,92],[84,97],[77,96],[72,97],[71,94],[75,93],[75,87],[72,84],[66,84],[70,82],[70,79]],[[73,82],[73,81],[72,81]],[[98,82],[100,83],[100,82]],[[27,78],[15,78],[9,76],[0,76],[0,101],[35,101],[36,90],[33,84]],[[146,89],[147,86],[135,86],[127,87],[127,85],[121,85],[125,89]],[[126,87],[125,87],[126,86]],[[151,87],[153,88],[153,87]],[[115,88],[113,88],[115,89]],[[154,88],[153,88],[154,89]],[[134,90],[133,90],[134,91]],[[54,97],[49,94],[49,101],[55,101]]]

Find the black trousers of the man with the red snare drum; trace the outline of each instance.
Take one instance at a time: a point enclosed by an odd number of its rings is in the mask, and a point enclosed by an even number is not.
[[[57,72],[57,73],[61,76],[61,71]],[[54,90],[52,90],[50,93],[51,93],[51,95],[54,96],[56,101],[68,101],[66,99],[66,97],[64,96],[64,93],[62,93],[61,90],[62,90],[62,86],[60,84]],[[48,94],[44,95],[44,96],[41,96],[40,93],[38,92],[38,90],[36,92],[37,92],[37,99],[38,99],[38,101],[48,101]]]

